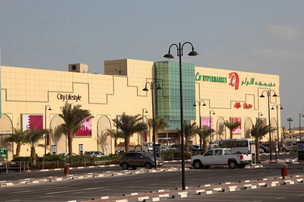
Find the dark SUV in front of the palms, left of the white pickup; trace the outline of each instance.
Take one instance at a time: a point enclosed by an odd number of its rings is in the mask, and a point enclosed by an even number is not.
[[[160,158],[156,158],[156,166],[162,167],[163,160]],[[144,167],[146,169],[151,169],[155,166],[154,156],[144,153],[144,152],[129,152],[125,153],[120,158],[119,166],[121,166],[124,170],[127,170],[129,167],[132,169],[136,169],[137,167]]]

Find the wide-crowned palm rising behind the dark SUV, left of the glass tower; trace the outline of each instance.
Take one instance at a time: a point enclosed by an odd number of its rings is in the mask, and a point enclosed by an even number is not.
[[[147,124],[142,123],[142,117],[140,114],[130,117],[126,115],[126,112],[123,112],[123,115],[112,119],[112,121],[113,125],[124,133],[126,152],[129,151],[131,134],[147,129]]]

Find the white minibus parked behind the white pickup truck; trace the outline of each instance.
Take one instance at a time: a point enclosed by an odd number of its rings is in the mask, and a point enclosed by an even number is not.
[[[251,138],[241,138],[241,139],[217,139],[214,141],[214,147],[215,148],[223,148],[224,143],[223,141],[233,141],[235,144],[231,148],[232,152],[234,154],[240,153],[240,154],[250,154],[250,142],[254,143],[254,139]]]

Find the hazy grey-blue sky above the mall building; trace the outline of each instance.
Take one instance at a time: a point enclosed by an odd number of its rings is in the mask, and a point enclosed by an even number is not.
[[[164,61],[172,43],[190,41],[199,56],[182,62],[279,75],[281,126],[291,117],[293,128],[304,113],[303,8],[281,0],[0,0],[1,63],[60,71],[86,63],[104,73],[105,60]]]

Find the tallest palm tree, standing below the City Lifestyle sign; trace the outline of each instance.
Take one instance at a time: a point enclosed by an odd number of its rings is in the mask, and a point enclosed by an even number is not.
[[[62,114],[59,114],[59,117],[61,117],[64,121],[64,123],[60,125],[60,129],[67,137],[68,153],[70,157],[73,153],[72,141],[75,133],[77,133],[77,131],[81,128],[81,124],[86,120],[87,117],[94,118],[89,110],[84,110],[81,108],[82,105],[73,106],[68,102],[65,102],[63,107],[60,107]]]

